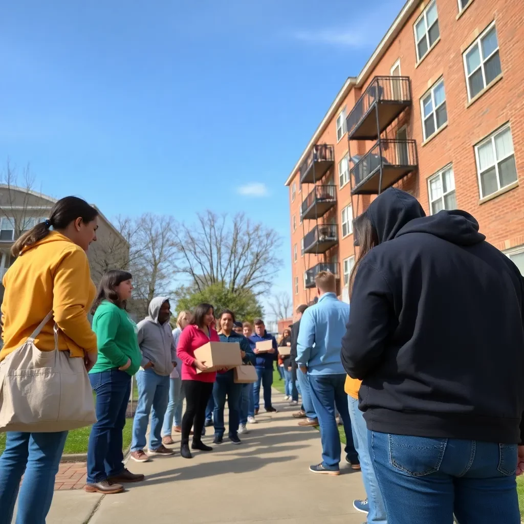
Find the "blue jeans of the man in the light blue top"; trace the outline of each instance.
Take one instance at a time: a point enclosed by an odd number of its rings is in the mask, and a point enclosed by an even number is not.
[[[311,400],[320,424],[322,464],[326,470],[338,471],[340,464],[341,445],[335,406],[344,423],[347,457],[351,462],[358,463],[358,455],[353,445],[350,412],[347,408],[347,395],[344,391],[345,381],[345,374],[309,375]]]

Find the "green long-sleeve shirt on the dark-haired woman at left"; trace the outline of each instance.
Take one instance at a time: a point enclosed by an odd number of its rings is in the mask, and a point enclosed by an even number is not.
[[[96,333],[98,359],[90,373],[100,373],[125,365],[131,365],[126,373],[134,375],[140,367],[140,348],[136,338],[136,324],[125,310],[104,300],[93,316],[93,331]]]

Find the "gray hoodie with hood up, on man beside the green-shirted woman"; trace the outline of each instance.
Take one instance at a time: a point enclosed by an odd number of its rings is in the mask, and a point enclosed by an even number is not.
[[[157,375],[167,376],[173,370],[173,355],[177,348],[174,345],[173,334],[169,322],[161,325],[158,313],[161,305],[168,297],[155,297],[149,304],[149,316],[138,323],[138,345],[142,352],[141,366],[152,362],[152,369]]]

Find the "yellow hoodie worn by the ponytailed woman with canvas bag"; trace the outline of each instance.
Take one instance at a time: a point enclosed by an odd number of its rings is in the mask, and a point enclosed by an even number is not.
[[[96,351],[96,336],[87,316],[96,289],[88,257],[69,238],[51,231],[24,249],[3,284],[0,361],[23,344],[51,310],[54,321],[44,326],[35,341],[40,351],[54,349],[54,322],[60,328],[60,350],[69,350],[73,357]]]

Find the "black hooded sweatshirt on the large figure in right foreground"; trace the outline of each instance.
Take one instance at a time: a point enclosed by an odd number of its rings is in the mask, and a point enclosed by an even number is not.
[[[380,244],[357,270],[342,362],[363,379],[368,429],[524,442],[524,284],[515,264],[464,211],[425,216],[390,188],[366,214]]]

